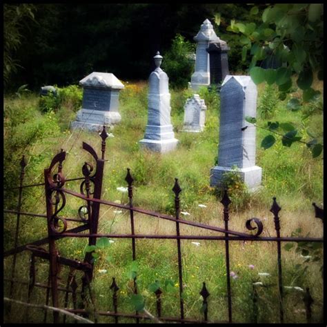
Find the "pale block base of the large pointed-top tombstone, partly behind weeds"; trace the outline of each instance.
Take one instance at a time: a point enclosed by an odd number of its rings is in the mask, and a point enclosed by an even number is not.
[[[215,166],[210,170],[210,186],[219,186],[226,172],[236,172],[249,190],[256,190],[261,184],[262,168],[259,166],[238,168],[237,170],[230,167]]]

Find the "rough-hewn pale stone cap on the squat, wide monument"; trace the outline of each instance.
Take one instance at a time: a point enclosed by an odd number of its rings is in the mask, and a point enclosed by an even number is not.
[[[89,86],[93,88],[110,88],[122,89],[123,83],[115,77],[111,72],[92,72],[79,81],[81,86]]]

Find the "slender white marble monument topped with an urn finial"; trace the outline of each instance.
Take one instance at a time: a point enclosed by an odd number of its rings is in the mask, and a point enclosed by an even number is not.
[[[149,77],[148,125],[146,125],[144,139],[141,139],[139,143],[141,148],[148,148],[155,152],[168,152],[176,148],[178,140],[175,139],[170,123],[168,76],[160,68],[162,57],[159,51],[154,58],[157,68]]]

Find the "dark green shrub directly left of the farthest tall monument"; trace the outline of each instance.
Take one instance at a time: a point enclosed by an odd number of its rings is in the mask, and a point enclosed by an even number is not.
[[[172,46],[164,54],[161,67],[169,77],[172,88],[187,88],[193,71],[193,63],[188,55],[194,52],[194,45],[177,34],[172,40]]]

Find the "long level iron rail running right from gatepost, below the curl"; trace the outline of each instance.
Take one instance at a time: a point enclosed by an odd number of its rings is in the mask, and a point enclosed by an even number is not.
[[[75,234],[73,232],[63,232],[61,237],[110,237],[117,239],[212,239],[212,240],[230,240],[230,241],[310,241],[323,242],[323,238],[314,237],[233,237],[233,236],[214,236],[214,235],[129,235],[129,234]]]

